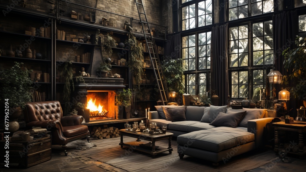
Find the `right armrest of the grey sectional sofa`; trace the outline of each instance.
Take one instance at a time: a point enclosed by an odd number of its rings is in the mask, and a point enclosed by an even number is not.
[[[266,124],[271,122],[274,118],[260,118],[256,120],[248,120],[248,132],[255,135],[255,147],[263,146],[264,128]]]

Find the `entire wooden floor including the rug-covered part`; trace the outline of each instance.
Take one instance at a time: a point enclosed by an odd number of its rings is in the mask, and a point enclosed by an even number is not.
[[[134,141],[136,139],[124,136],[124,142]],[[220,163],[217,169],[214,169],[211,162],[184,156],[181,160],[177,154],[176,140],[172,141],[173,152],[162,153],[152,158],[151,155],[133,151],[130,148],[121,148],[119,146],[120,137],[111,139],[91,139],[97,147],[83,150],[70,149],[68,156],[54,146],[52,150],[52,159],[29,167],[27,169],[18,169],[23,172],[48,171],[48,172],[98,172],[98,171],[193,171],[193,172],[259,172],[259,171],[304,171],[306,161],[296,157],[290,159],[291,162],[282,162],[271,149],[261,149],[251,151],[246,154],[238,155],[230,159],[225,164]],[[162,140],[156,142],[156,146],[167,147],[168,141]],[[16,169],[3,169],[3,172],[17,171]]]

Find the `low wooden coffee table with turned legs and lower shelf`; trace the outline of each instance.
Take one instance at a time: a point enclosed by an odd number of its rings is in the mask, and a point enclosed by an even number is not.
[[[171,154],[171,152],[173,151],[172,147],[171,147],[171,139],[172,139],[172,135],[173,133],[171,132],[166,132],[165,134],[149,134],[149,133],[144,133],[144,132],[133,132],[133,131],[127,131],[125,129],[121,129],[119,130],[120,133],[120,143],[119,145],[121,147],[129,147],[132,149],[135,149],[137,151],[141,151],[141,152],[145,152],[148,154],[153,155],[152,158],[155,158],[155,155],[162,153],[162,152],[166,152],[169,151],[169,154]],[[123,143],[123,136],[129,136],[129,137],[134,137],[137,140],[133,141],[133,142],[128,142],[128,143]],[[169,143],[169,147],[168,148],[164,148],[164,147],[158,147],[157,149],[155,149],[155,142],[159,141],[159,140],[166,140],[168,139],[168,143]],[[148,149],[147,147],[141,147],[140,142],[141,140],[147,140],[147,141],[151,141],[152,142],[152,150]],[[149,147],[151,148],[151,147]]]

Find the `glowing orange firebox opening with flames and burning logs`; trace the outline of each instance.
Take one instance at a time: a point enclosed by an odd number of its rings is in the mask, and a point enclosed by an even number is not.
[[[114,119],[115,91],[88,91],[87,109],[90,120]]]

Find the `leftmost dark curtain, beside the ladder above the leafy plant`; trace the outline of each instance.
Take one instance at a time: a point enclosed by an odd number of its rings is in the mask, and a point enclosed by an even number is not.
[[[181,33],[173,34],[166,40],[164,59],[181,59]]]

